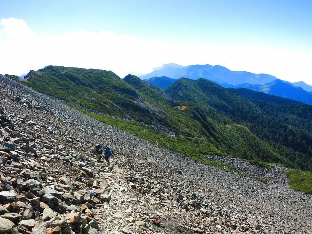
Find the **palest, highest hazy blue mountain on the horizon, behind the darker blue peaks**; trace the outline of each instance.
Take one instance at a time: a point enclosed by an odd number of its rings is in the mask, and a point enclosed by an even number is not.
[[[264,85],[277,79],[275,76],[268,74],[254,74],[247,71],[231,71],[220,65],[212,66],[206,64],[180,66],[174,63],[164,64],[163,66],[154,69],[151,73],[141,76],[140,78],[148,79],[154,76],[167,76],[173,79],[186,77],[193,80],[205,78],[217,83],[227,83],[231,85],[243,83]]]

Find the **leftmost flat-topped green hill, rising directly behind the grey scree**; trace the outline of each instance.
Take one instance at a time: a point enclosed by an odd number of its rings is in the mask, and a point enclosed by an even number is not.
[[[135,101],[138,94],[112,71],[48,66],[27,75],[26,86],[108,115],[153,122],[152,114]]]

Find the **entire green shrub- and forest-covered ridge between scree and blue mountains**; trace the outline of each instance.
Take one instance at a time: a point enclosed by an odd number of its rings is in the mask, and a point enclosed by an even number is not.
[[[206,79],[180,78],[162,90],[133,75],[121,79],[112,71],[61,66],[25,78],[18,81],[114,117],[103,121],[197,160],[223,154],[312,170],[306,105],[254,101]]]

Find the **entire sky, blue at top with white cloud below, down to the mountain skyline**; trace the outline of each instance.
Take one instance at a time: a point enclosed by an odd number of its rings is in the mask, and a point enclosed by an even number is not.
[[[312,85],[312,0],[0,0],[0,74],[210,64]]]

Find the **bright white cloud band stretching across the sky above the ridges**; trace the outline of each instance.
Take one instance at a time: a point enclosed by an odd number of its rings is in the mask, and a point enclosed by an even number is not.
[[[312,82],[308,64],[312,61],[311,51],[144,41],[104,30],[40,37],[22,19],[1,19],[0,24],[0,54],[4,55],[0,57],[1,74],[21,75],[45,65],[60,65],[111,70],[123,77],[148,73],[153,67],[174,62],[183,66],[220,64],[233,71]]]

